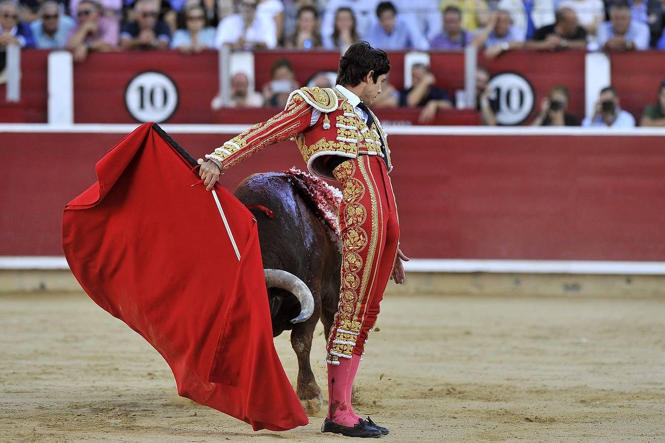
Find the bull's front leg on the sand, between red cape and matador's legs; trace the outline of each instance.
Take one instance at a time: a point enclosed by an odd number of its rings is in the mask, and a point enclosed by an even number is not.
[[[323,406],[321,389],[317,385],[309,362],[314,329],[321,315],[321,304],[316,303],[316,297],[314,300],[315,308],[312,316],[305,323],[293,327],[293,331],[291,331],[291,347],[293,347],[293,351],[295,351],[295,355],[298,358],[296,394],[309,416],[317,414],[321,410],[321,406]]]

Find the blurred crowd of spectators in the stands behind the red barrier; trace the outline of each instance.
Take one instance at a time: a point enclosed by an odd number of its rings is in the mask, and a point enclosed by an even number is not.
[[[200,52],[224,44],[243,50],[344,51],[360,39],[384,50],[473,45],[488,59],[520,48],[665,50],[664,12],[665,0],[3,0],[0,52],[8,44],[65,48],[80,61],[92,51]],[[375,106],[422,106],[424,123],[438,109],[454,106],[435,86],[428,66],[414,66],[412,78],[408,90],[386,85]],[[477,109],[483,124],[492,125],[496,106],[488,80],[489,72],[479,68]],[[317,82],[326,86],[331,79],[321,76]],[[248,90],[247,76],[236,74],[231,97],[235,106],[283,106],[298,86],[291,64],[280,60],[262,93]],[[661,86],[658,104],[645,110],[641,124],[665,126],[663,95]],[[553,88],[533,123],[578,124],[566,113],[567,104],[567,88]],[[601,92],[596,111],[583,126],[635,124],[620,112],[614,88]]]

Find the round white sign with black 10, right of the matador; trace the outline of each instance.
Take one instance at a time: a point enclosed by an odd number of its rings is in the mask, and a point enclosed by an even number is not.
[[[503,72],[489,80],[491,98],[499,104],[497,123],[517,125],[533,111],[534,94],[526,78],[515,72]]]

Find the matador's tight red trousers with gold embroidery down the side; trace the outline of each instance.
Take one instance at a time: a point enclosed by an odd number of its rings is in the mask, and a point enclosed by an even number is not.
[[[386,163],[359,155],[333,171],[342,188],[342,281],[326,361],[362,355],[397,254],[400,226]]]

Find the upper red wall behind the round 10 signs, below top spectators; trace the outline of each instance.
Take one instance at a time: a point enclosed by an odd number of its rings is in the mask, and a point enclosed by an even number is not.
[[[44,50],[22,52],[23,100],[19,105],[5,104],[4,86],[0,86],[0,121],[46,122],[47,56],[48,52]],[[275,60],[283,57],[291,60],[298,80],[303,83],[320,70],[336,70],[339,60],[337,52],[257,52],[255,76],[259,90],[269,80],[270,68]],[[438,86],[445,88],[451,96],[456,90],[464,88],[464,54],[430,52],[430,58]],[[390,81],[401,89],[404,83],[404,52],[391,52],[390,60]],[[584,117],[584,61],[585,52],[577,51],[511,51],[496,60],[487,61],[482,57],[479,60],[492,74],[517,72],[528,80],[536,94],[531,117],[539,110],[540,101],[551,86],[568,86],[571,92],[570,111],[579,120]],[[656,88],[665,72],[665,57],[659,51],[641,51],[612,54],[611,61],[612,82],[619,90],[622,106],[639,118],[644,106],[655,100]],[[134,118],[125,107],[124,91],[136,74],[146,70],[164,72],[178,88],[180,102],[168,123],[238,121],[238,117],[220,120],[219,116],[224,113],[215,113],[210,109],[210,101],[217,94],[217,52],[190,55],[171,50],[90,54],[86,61],[76,64],[74,120],[77,123],[134,123]],[[392,111],[386,112],[390,114]],[[414,115],[417,114],[414,112]],[[257,121],[251,113],[238,116],[243,116],[244,123]],[[400,120],[389,115],[384,119]],[[410,121],[415,124],[417,118]],[[470,124],[456,117],[436,123]]]

